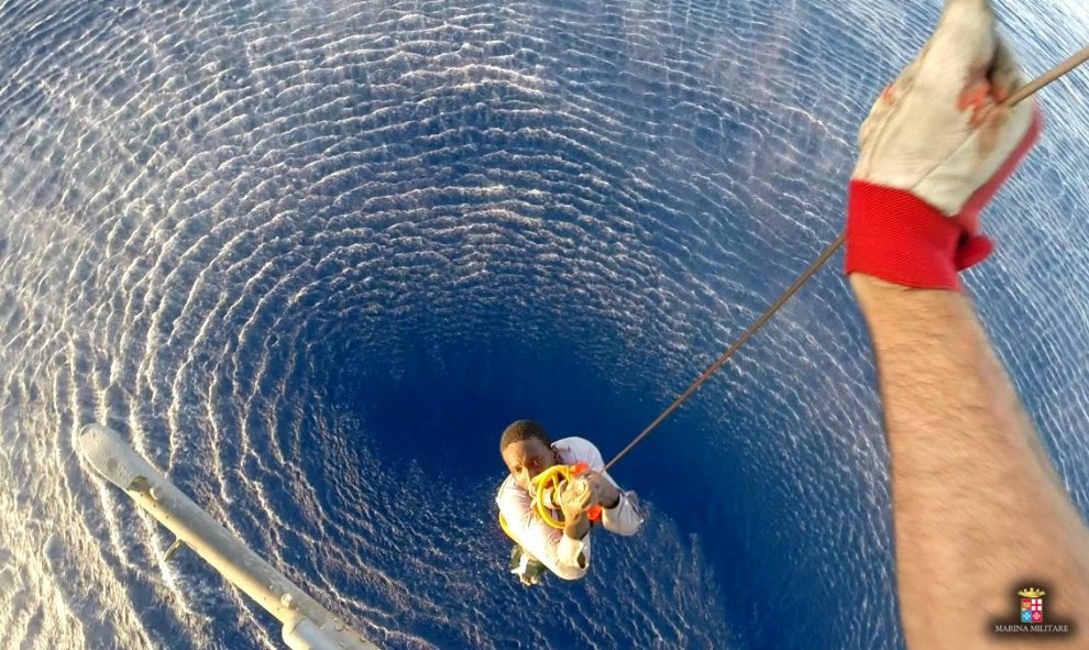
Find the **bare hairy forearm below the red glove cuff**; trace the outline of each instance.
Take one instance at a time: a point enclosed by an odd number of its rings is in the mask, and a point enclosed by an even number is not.
[[[909,642],[994,643],[990,624],[1033,582],[1056,588],[1049,619],[1089,610],[1089,536],[971,304],[860,273],[851,284],[880,374]]]

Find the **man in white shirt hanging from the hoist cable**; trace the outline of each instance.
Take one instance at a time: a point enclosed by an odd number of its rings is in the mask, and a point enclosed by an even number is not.
[[[522,584],[537,584],[544,569],[564,580],[584,576],[590,528],[598,519],[623,536],[642,526],[638,497],[619,489],[603,471],[602,454],[588,440],[572,437],[553,443],[539,423],[518,420],[503,431],[499,453],[510,475],[495,502],[499,524],[515,542],[510,572]],[[542,478],[558,474],[565,478],[541,485]]]

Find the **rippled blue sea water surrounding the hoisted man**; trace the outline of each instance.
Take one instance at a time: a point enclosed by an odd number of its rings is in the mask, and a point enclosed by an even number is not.
[[[617,465],[590,577],[521,588],[492,499],[507,422],[610,458],[835,238],[902,4],[0,3],[0,646],[279,647],[99,421],[385,648],[901,647],[839,258]],[[998,9],[1030,70],[1089,27]],[[1086,90],[969,274],[1082,511]]]

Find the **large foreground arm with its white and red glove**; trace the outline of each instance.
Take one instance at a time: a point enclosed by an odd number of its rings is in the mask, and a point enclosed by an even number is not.
[[[897,580],[912,648],[988,648],[1021,588],[1089,626],[1089,533],[987,341],[958,272],[979,212],[1040,133],[987,0],[946,0],[859,129],[847,273],[869,323],[892,463]],[[1031,218],[1026,214],[1026,218]],[[1079,620],[1080,619],[1080,620]],[[1087,647],[1089,635],[1050,636]]]

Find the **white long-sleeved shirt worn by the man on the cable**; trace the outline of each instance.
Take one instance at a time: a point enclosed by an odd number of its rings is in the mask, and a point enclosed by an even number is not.
[[[602,453],[584,438],[564,438],[552,443],[556,455],[564,465],[585,462],[594,472],[601,473],[613,485],[612,476],[602,472],[605,462]],[[495,497],[499,513],[507,521],[515,541],[539,560],[549,571],[564,580],[578,580],[586,574],[590,566],[590,533],[582,539],[563,535],[560,528],[552,528],[541,519],[532,507],[532,497],[518,487],[514,476],[507,476]],[[642,526],[635,493],[620,491],[620,502],[615,508],[602,509],[602,525],[617,535],[635,535]],[[553,517],[559,514],[553,510]]]

